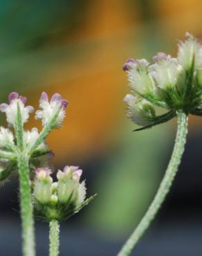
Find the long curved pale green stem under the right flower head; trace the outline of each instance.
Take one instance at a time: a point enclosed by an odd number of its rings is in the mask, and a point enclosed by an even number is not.
[[[126,241],[125,245],[118,253],[118,256],[128,256],[131,253],[131,250],[136,246],[140,238],[145,233],[145,230],[149,228],[150,223],[156,216],[160,206],[165,200],[165,196],[169,192],[169,189],[172,185],[172,181],[174,181],[174,177],[176,176],[176,172],[178,170],[178,165],[181,163],[181,158],[185,148],[186,136],[187,136],[187,123],[188,117],[183,111],[178,111],[177,113],[177,133],[176,140],[174,144],[174,149],[172,152],[172,156],[169,161],[169,165],[165,172],[165,176],[163,177],[163,181],[160,183],[160,187],[152,201],[149,209],[145,213],[145,216],[138,224],[137,228],[132,233],[131,237]]]

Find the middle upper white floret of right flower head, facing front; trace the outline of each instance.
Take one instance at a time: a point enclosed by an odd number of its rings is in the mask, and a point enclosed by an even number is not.
[[[181,72],[181,66],[178,65],[176,58],[172,58],[165,53],[158,53],[153,57],[155,64],[149,66],[149,73],[152,75],[160,89],[173,87]]]

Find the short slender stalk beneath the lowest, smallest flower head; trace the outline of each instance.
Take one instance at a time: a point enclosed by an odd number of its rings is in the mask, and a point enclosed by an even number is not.
[[[50,221],[49,224],[50,233],[50,251],[49,256],[58,256],[59,255],[59,222],[56,220]]]

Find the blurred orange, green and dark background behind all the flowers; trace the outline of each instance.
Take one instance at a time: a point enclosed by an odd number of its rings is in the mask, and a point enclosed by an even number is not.
[[[116,255],[143,216],[172,152],[176,120],[134,133],[122,102],[128,57],[176,55],[185,32],[202,33],[199,0],[0,1],[0,100],[18,91],[37,109],[42,91],[69,101],[48,137],[51,165],[80,165],[96,199],[61,230],[61,256]],[[1,123],[5,117],[1,114]],[[30,118],[27,128],[39,127]],[[190,116],[183,161],[136,256],[202,255],[202,120]],[[0,255],[21,255],[17,176],[0,190]],[[37,255],[48,223],[37,221]]]

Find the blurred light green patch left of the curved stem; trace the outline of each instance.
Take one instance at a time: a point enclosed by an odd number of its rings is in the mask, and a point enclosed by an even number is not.
[[[116,131],[118,149],[102,170],[95,170],[101,173],[93,189],[98,196],[86,214],[88,223],[113,237],[132,230],[143,216],[158,188],[167,161],[163,156],[173,140],[167,124],[140,132],[133,129],[128,123],[119,134]]]

